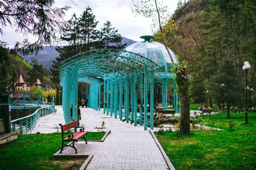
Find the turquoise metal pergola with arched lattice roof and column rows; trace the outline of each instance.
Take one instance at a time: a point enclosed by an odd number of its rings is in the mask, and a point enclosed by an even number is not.
[[[65,122],[77,119],[78,82],[89,84],[89,107],[106,115],[125,119],[134,126],[153,129],[154,83],[163,83],[166,103],[167,82],[173,73],[143,55],[118,49],[97,49],[72,56],[60,63],[60,86]],[[174,90],[176,88],[174,87]],[[176,101],[178,103],[178,100]]]

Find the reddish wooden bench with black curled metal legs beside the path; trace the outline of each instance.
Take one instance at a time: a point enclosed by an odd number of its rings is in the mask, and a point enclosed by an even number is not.
[[[78,141],[79,138],[83,138],[85,140],[85,144],[87,144],[87,140],[85,139],[84,135],[88,133],[88,131],[84,131],[83,127],[78,127],[78,121],[73,121],[67,124],[59,124],[62,128],[62,149],[59,153],[62,153],[65,147],[72,147],[75,149],[77,153],[77,149],[75,147],[75,142]],[[68,131],[70,129],[74,128],[74,132]],[[79,131],[76,131],[76,129],[79,128]],[[68,134],[68,137],[64,138],[64,134]],[[65,144],[65,142],[72,142],[71,144]]]

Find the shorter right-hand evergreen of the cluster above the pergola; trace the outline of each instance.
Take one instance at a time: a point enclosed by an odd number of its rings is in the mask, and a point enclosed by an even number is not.
[[[122,49],[126,44],[121,44],[122,36],[118,33],[118,30],[115,30],[114,27],[111,27],[109,20],[104,23],[100,31],[100,38],[102,39],[103,48],[119,48]]]

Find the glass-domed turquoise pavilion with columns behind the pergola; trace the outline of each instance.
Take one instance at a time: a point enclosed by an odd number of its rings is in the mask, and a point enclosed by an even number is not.
[[[173,109],[176,110],[176,112],[180,112],[180,107],[178,106],[178,102],[180,101],[180,98],[178,96],[178,89],[176,88],[176,84],[173,81],[175,73],[173,71],[172,61],[165,46],[163,44],[160,44],[159,42],[151,41],[154,36],[141,36],[140,38],[144,39],[144,41],[135,42],[134,44],[126,47],[125,50],[145,56],[145,58],[156,62],[159,66],[162,66],[161,70],[154,74],[154,82],[160,84],[161,86],[160,101],[162,103],[162,107],[164,109],[167,109],[167,103],[169,103],[168,99],[170,97],[170,95],[168,95],[170,93],[170,89],[168,87],[172,85]],[[171,53],[174,63],[176,65],[179,65],[177,56],[170,48],[168,49]],[[156,93],[154,95],[158,96],[158,94]]]

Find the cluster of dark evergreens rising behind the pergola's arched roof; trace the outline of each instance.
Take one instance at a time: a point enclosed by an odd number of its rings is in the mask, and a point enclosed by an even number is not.
[[[82,15],[77,18],[74,13],[68,21],[68,25],[63,29],[61,40],[66,46],[57,47],[59,57],[53,61],[51,70],[51,80],[56,88],[59,87],[59,63],[63,60],[78,53],[98,48],[118,48],[123,49],[126,44],[122,45],[122,36],[111,22],[107,21],[104,26],[97,30],[98,21],[93,14],[92,9],[87,6]]]

